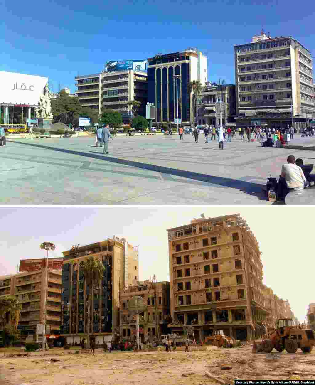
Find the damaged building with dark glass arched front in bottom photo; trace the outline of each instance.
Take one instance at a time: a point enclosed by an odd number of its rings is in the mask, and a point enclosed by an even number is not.
[[[78,246],[64,251],[62,268],[62,335],[68,343],[80,342],[87,333],[89,292],[93,290],[90,333],[96,343],[106,335],[118,333],[119,292],[138,280],[138,250],[125,238]],[[82,263],[94,256],[104,265],[99,285],[90,288],[85,280]]]

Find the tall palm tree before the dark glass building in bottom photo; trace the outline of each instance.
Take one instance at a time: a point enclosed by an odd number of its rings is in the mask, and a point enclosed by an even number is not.
[[[104,274],[104,266],[100,259],[90,257],[82,264],[84,280],[86,287],[89,287],[89,301],[87,309],[87,348],[90,347],[90,315],[92,313],[93,291],[94,286],[100,285],[101,278]],[[93,331],[93,329],[92,329]]]

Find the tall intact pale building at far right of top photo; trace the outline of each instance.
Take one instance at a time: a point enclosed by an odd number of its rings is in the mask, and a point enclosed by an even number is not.
[[[238,123],[305,127],[315,114],[311,52],[293,37],[263,31],[234,50]]]

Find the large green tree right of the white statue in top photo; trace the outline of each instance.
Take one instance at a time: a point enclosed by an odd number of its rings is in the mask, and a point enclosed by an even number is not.
[[[60,91],[57,99],[51,101],[52,114],[55,122],[74,124],[79,119],[82,106],[77,96],[69,96],[65,91]]]

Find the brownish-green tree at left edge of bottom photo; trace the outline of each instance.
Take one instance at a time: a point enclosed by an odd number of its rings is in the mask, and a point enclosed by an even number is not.
[[[17,325],[20,319],[22,305],[15,296],[6,295],[0,298],[0,329],[3,329],[5,345],[17,339]]]

